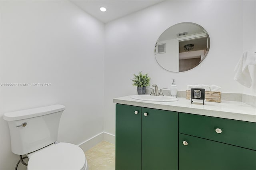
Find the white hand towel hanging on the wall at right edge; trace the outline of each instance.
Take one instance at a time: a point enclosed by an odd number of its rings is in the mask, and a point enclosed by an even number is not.
[[[234,80],[245,87],[252,86],[252,78],[248,70],[248,65],[256,65],[256,53],[245,51],[235,67],[236,73]]]

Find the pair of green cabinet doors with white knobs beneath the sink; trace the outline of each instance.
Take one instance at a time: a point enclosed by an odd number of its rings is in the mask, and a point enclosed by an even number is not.
[[[178,113],[116,104],[116,170],[178,170]]]

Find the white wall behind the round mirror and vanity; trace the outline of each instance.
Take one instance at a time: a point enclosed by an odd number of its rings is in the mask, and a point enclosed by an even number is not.
[[[211,45],[207,57],[196,68],[172,73],[157,64],[154,46],[166,28],[180,22],[201,25]],[[105,29],[106,132],[115,134],[112,99],[136,93],[130,79],[139,71],[148,73],[151,85],[157,84],[158,88],[170,88],[171,79],[175,79],[178,90],[183,91],[192,84],[215,84],[222,87],[222,92],[244,91],[233,80],[234,68],[243,53],[242,1],[166,1],[110,22]]]

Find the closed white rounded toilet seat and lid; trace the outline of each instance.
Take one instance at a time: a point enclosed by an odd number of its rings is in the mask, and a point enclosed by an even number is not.
[[[84,170],[87,168],[84,151],[71,143],[51,144],[27,156],[27,170]]]

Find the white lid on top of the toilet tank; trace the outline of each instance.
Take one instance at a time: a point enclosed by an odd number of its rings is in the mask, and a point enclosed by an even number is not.
[[[32,117],[38,117],[64,111],[65,106],[63,105],[51,105],[46,107],[38,107],[34,109],[26,109],[22,111],[8,112],[4,114],[4,120],[6,121],[19,121],[22,119],[29,119]]]

